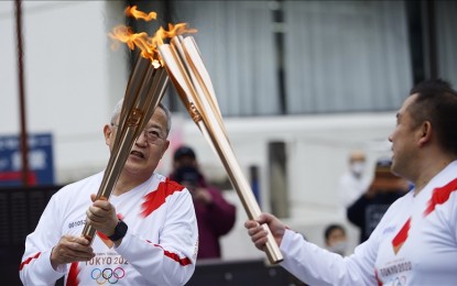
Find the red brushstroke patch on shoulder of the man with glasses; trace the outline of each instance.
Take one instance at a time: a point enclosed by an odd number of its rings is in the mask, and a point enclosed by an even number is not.
[[[181,191],[183,189],[183,186],[173,180],[170,180],[168,178],[166,178],[165,182],[161,182],[156,190],[151,191],[144,196],[144,201],[141,204],[141,216],[143,218],[148,217],[154,210],[159,209],[163,204],[165,204],[166,197],[173,195],[175,191]]]

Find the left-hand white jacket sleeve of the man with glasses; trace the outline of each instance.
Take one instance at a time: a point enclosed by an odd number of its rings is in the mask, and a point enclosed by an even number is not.
[[[51,265],[51,251],[57,244],[62,234],[52,223],[59,220],[54,195],[47,204],[34,232],[25,239],[25,251],[19,266],[19,276],[24,285],[55,285],[55,282],[64,276],[66,266],[59,266],[57,271]]]

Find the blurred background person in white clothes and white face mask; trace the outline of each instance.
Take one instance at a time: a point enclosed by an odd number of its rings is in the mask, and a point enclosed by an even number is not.
[[[370,186],[364,174],[366,155],[361,150],[349,154],[349,168],[338,180],[338,197],[341,206],[341,216],[346,217],[346,209],[356,201]]]

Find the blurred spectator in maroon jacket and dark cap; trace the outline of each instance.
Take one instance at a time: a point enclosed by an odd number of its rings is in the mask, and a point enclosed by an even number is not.
[[[194,199],[199,235],[197,258],[220,258],[219,239],[233,228],[236,207],[217,188],[207,184],[191,147],[176,150],[173,167],[170,178],[185,186]]]

